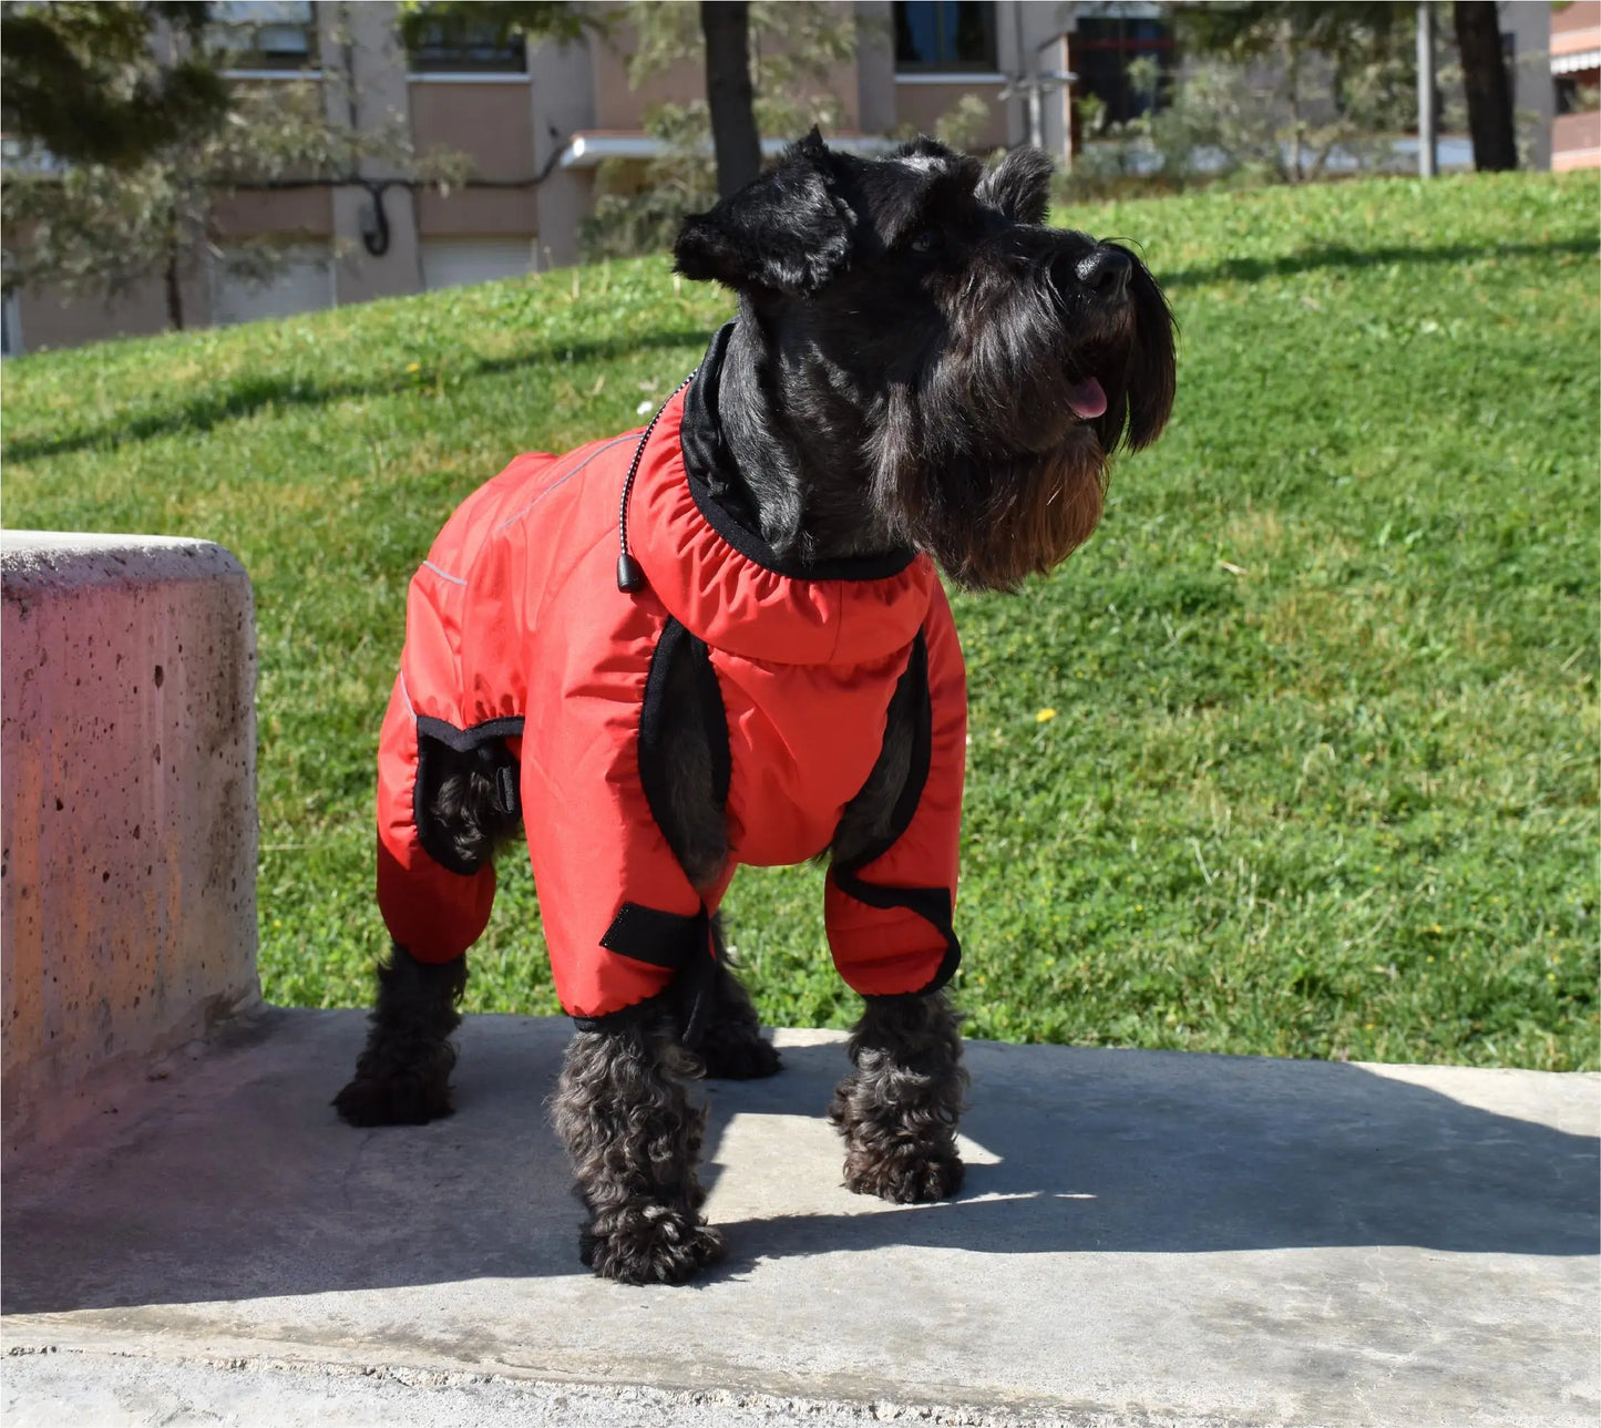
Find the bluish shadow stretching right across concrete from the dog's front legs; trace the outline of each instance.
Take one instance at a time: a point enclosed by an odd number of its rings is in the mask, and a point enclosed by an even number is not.
[[[1593,1082],[1587,1113],[1574,1117],[1588,1125],[1558,1130],[1351,1065],[983,1042],[967,1060],[969,1170],[954,1201],[757,1209],[728,1221],[716,1215],[714,1196],[712,1218],[730,1247],[720,1273],[887,1245],[978,1254],[1417,1245],[1526,1255],[1598,1247]],[[709,1157],[738,1132],[741,1111],[788,1106],[815,1117],[842,1069],[839,1045],[791,1047],[773,1082],[714,1089]]]

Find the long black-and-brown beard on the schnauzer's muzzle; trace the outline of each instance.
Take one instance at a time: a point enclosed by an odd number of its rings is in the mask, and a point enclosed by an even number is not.
[[[1170,319],[1143,272],[1105,317],[1065,311],[1044,279],[953,296],[949,336],[890,387],[876,498],[954,581],[1010,591],[1089,540],[1111,453],[1166,423]]]

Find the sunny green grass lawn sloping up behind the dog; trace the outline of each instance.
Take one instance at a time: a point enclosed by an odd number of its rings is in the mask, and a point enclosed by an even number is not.
[[[957,604],[977,1036],[1596,1068],[1593,176],[1074,211],[1182,325],[1095,540]],[[256,584],[261,973],[367,997],[411,570],[520,450],[624,431],[728,311],[647,259],[5,365],[10,527],[207,536]],[[740,874],[762,1015],[845,1025],[818,869]],[[557,1010],[503,866],[469,1004]]]

